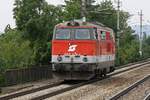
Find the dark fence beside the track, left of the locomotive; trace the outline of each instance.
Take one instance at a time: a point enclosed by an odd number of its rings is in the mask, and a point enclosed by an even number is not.
[[[37,81],[40,79],[52,78],[52,67],[48,66],[35,66],[25,69],[7,70],[4,74],[5,85],[16,85],[18,83],[25,83]]]

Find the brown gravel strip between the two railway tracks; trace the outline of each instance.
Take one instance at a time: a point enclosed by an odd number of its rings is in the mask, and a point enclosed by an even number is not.
[[[103,81],[85,85],[47,100],[107,100],[150,73],[150,66],[115,75]]]

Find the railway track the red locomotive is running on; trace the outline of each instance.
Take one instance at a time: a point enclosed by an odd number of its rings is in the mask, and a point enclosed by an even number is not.
[[[129,70],[135,69],[137,67],[140,67],[140,66],[143,66],[143,65],[146,65],[146,64],[149,64],[149,63],[150,63],[150,61],[147,61],[147,62],[143,62],[143,63],[140,63],[140,64],[136,64],[136,65],[134,65],[132,67],[129,67],[129,68],[125,68],[123,70],[117,70],[116,72],[111,73],[107,77],[104,77],[104,78],[108,78],[110,76],[117,75],[117,74],[120,74],[120,73],[129,71]],[[94,82],[100,81],[100,80],[102,80],[104,78],[97,78],[97,79],[93,79],[93,80],[90,80],[90,81],[87,81],[87,82],[81,82],[79,84],[70,85],[70,86],[67,86],[65,88],[61,88],[61,89],[58,89],[58,90],[56,89],[53,92],[47,92],[45,94],[41,94],[40,96],[33,97],[31,95],[30,99],[31,100],[46,99],[46,98],[49,98],[49,97],[52,97],[52,96],[64,93],[66,91],[69,91],[69,90],[72,90],[72,89],[75,89],[75,88],[78,88],[78,87],[81,87],[81,86],[84,86],[84,85],[87,85],[87,84],[90,84],[90,83],[94,83]],[[59,87],[60,85],[63,85],[62,82],[58,82],[56,84],[51,84],[51,85],[39,87],[39,88],[36,88],[36,89],[23,91],[23,92],[12,93],[12,94],[8,94],[8,95],[0,96],[0,100],[8,100],[8,99],[14,99],[15,100],[15,98],[20,98],[20,97],[23,97],[25,95],[30,95],[30,94],[33,94],[33,93],[38,93],[40,91],[43,91],[43,90],[46,90],[46,89],[50,89],[50,88],[56,88],[56,87]]]

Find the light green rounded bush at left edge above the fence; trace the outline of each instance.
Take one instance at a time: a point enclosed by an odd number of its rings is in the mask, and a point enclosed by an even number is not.
[[[34,64],[30,42],[21,38],[21,32],[10,30],[0,37],[0,70]]]

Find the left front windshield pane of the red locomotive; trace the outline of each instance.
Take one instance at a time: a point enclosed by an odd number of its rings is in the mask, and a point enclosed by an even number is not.
[[[70,29],[57,29],[55,33],[55,39],[70,39]]]

